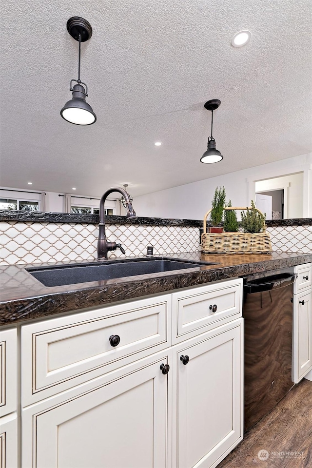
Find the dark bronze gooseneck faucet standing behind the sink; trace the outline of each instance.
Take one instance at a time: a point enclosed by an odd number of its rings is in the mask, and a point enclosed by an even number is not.
[[[129,194],[125,190],[123,190],[121,187],[111,187],[105,192],[104,195],[102,195],[100,202],[99,202],[98,260],[107,258],[107,253],[109,251],[114,251],[116,249],[120,249],[121,252],[125,254],[125,251],[120,244],[117,244],[116,242],[110,242],[106,239],[104,203],[108,195],[110,195],[112,192],[119,192],[119,194],[121,194],[124,197],[126,209],[127,209],[127,220],[137,219],[137,215],[133,209]]]

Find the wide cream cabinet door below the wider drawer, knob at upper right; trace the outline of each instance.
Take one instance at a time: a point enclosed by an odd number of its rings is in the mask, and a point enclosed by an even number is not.
[[[56,406],[50,399],[50,408],[42,410],[41,404],[37,413],[25,409],[22,466],[167,467],[168,376],[160,370],[162,363],[166,359],[145,362],[145,367]]]

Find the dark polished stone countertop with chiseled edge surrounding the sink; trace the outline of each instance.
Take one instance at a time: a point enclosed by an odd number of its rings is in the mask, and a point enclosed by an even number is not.
[[[100,263],[101,261],[1,266],[0,325],[13,324],[62,312],[95,308],[150,294],[171,292],[180,288],[220,281],[226,278],[247,276],[252,273],[261,273],[312,262],[312,254],[276,252],[273,254],[245,255],[201,254],[195,252],[166,255],[166,258],[169,257],[214,262],[215,265],[200,265],[173,272],[142,274],[53,287],[43,286],[25,268],[43,265]],[[129,257],[129,259],[133,260],[134,257]]]

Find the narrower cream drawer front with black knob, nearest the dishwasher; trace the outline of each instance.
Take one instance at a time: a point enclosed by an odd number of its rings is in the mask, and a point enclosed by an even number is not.
[[[173,343],[240,317],[241,294],[242,279],[173,293]]]

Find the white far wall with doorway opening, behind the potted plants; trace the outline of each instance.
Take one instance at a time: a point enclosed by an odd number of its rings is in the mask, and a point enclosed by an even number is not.
[[[138,216],[203,219],[217,186],[225,187],[233,206],[248,206],[254,199],[256,180],[300,171],[304,174],[303,216],[312,217],[312,153],[141,195],[133,205]]]

